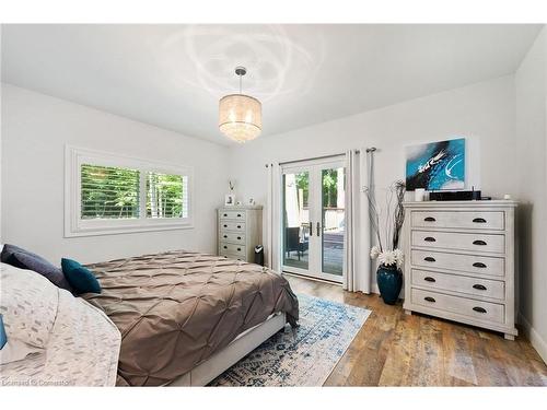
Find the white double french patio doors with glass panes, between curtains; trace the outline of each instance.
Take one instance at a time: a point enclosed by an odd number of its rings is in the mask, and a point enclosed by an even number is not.
[[[334,282],[345,270],[344,156],[282,166],[282,269]]]

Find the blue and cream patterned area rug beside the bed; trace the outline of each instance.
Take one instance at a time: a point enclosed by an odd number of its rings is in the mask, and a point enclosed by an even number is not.
[[[299,294],[300,327],[290,326],[210,386],[322,386],[371,311]]]

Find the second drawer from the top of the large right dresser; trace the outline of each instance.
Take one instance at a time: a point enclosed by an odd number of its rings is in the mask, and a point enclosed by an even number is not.
[[[411,244],[412,246],[427,246],[430,248],[505,253],[504,235],[412,231]]]

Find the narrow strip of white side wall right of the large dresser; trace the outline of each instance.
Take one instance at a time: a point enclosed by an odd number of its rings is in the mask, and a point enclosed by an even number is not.
[[[544,28],[515,73],[516,142],[521,201],[521,321],[547,361],[547,33]]]

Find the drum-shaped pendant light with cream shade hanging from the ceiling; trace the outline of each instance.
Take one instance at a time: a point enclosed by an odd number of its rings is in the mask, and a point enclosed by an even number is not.
[[[228,138],[246,142],[254,140],[263,130],[263,105],[258,99],[242,94],[245,67],[236,67],[240,77],[240,94],[224,95],[219,102],[219,129]]]

